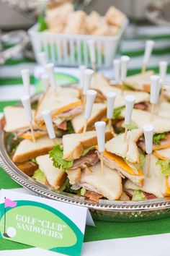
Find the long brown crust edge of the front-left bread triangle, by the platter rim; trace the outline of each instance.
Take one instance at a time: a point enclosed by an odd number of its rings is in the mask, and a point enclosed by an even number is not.
[[[27,153],[22,153],[19,155],[14,155],[12,158],[12,161],[14,163],[22,163],[24,161],[30,160],[32,158],[35,158],[39,155],[45,155],[47,154],[50,150],[52,150],[53,146],[48,146],[45,148],[41,148],[40,150],[32,150],[30,152]]]

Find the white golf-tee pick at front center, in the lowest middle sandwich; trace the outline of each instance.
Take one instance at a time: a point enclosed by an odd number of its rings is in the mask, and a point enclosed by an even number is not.
[[[98,151],[100,153],[101,174],[103,175],[104,174],[103,153],[104,153],[104,148],[105,148],[105,129],[106,129],[105,121],[97,121],[95,123],[95,128],[97,131]]]

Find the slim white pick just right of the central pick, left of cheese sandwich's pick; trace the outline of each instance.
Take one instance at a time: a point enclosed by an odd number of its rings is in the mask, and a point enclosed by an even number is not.
[[[109,130],[113,134],[115,132],[112,127],[112,116],[114,111],[115,98],[116,98],[116,93],[113,93],[113,92],[107,93],[107,119],[109,119]]]

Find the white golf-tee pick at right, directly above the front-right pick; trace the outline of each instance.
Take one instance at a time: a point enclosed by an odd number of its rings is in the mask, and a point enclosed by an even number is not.
[[[150,94],[150,103],[151,103],[151,121],[153,121],[153,115],[155,110],[155,105],[158,102],[159,90],[160,90],[160,77],[158,75],[152,75],[151,80],[151,94]]]

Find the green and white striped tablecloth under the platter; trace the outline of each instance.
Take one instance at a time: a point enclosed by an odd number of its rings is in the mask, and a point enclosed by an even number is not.
[[[158,72],[158,61],[170,60],[170,30],[167,27],[128,27],[126,37],[122,41],[120,54],[130,56],[130,68],[128,74],[140,72],[143,60],[144,46],[147,39],[156,41],[153,55],[148,68]],[[32,74],[32,93],[35,91],[34,70],[35,62],[27,59],[11,59],[0,68],[0,112],[4,106],[14,105],[22,95],[21,69],[30,69]],[[168,73],[170,72],[170,66]],[[104,70],[109,77],[113,77],[113,71]],[[59,82],[71,82],[73,77],[79,77],[78,69],[58,69]],[[65,75],[66,74],[66,75]],[[167,76],[169,79],[169,75]],[[0,188],[17,189],[19,185],[12,181],[4,171],[0,170]],[[83,255],[169,255],[170,219],[137,223],[106,223],[96,221],[96,228],[87,226],[84,237]],[[161,234],[151,236],[153,234]],[[135,237],[139,236],[139,237]],[[131,239],[130,237],[133,237]],[[124,239],[123,239],[124,238]],[[108,240],[109,239],[109,240]],[[113,240],[114,239],[114,240]],[[100,241],[99,240],[104,240]],[[98,241],[98,242],[97,242]],[[6,255],[54,255],[38,248],[30,248],[24,244],[17,244],[0,239],[0,256]],[[140,248],[140,249],[139,249]],[[151,251],[152,249],[152,251]],[[11,250],[9,252],[9,250]],[[161,252],[160,252],[161,250]],[[130,253],[129,253],[130,252]],[[56,255],[56,254],[55,254]]]

